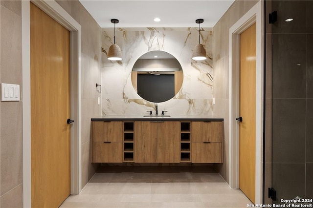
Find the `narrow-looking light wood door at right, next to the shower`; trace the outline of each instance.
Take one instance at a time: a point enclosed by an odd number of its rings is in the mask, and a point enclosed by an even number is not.
[[[240,34],[239,187],[255,203],[256,23]]]

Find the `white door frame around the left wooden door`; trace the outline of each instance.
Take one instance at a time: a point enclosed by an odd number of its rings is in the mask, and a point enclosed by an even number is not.
[[[81,25],[54,0],[22,0],[23,207],[31,207],[30,2],[70,31],[70,193],[82,189]]]

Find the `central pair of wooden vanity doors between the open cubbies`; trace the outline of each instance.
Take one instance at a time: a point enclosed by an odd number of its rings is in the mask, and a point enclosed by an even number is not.
[[[179,163],[179,122],[135,122],[135,163]]]

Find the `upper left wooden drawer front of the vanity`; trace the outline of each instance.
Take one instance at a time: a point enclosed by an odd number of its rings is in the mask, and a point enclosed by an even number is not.
[[[93,142],[122,142],[123,122],[92,122]]]

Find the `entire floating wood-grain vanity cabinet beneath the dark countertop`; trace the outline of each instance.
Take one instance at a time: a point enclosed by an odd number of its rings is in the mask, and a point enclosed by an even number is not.
[[[92,121],[93,163],[223,163],[223,122]]]

